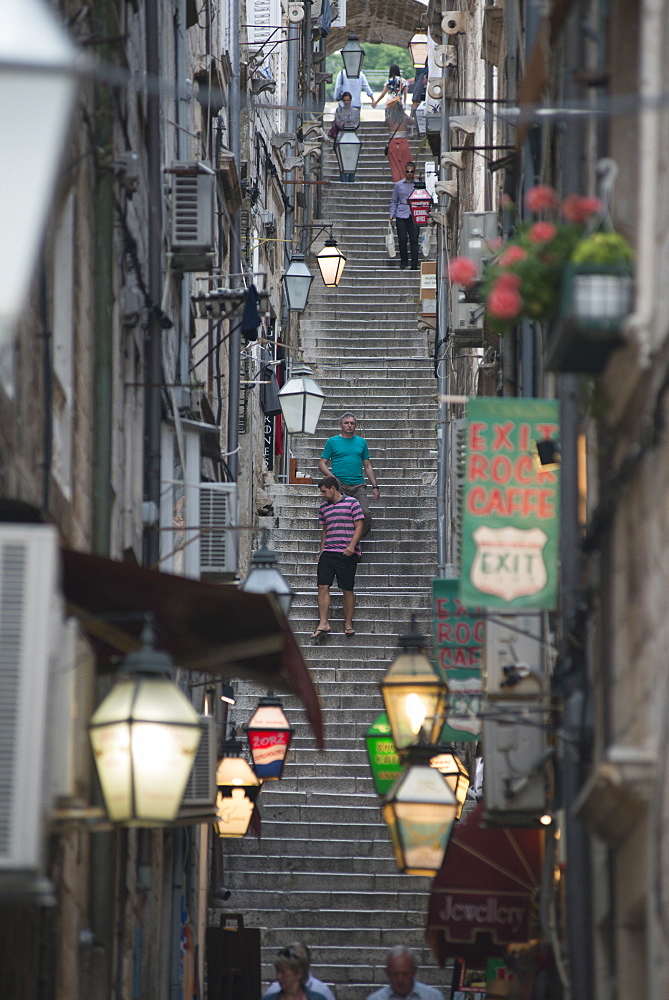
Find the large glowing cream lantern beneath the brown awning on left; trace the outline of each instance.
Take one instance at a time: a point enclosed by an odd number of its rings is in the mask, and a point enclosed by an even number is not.
[[[153,627],[120,670],[88,727],[105,808],[114,823],[157,826],[175,819],[200,743],[197,712],[169,679],[174,664],[153,645]]]

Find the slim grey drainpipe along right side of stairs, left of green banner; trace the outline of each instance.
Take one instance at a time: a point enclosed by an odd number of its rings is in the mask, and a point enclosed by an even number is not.
[[[448,152],[450,146],[450,117],[451,102],[446,97],[446,67],[442,71],[442,91],[441,91],[441,144],[442,153]],[[447,169],[440,165],[439,180],[446,180]],[[448,205],[448,195],[439,195],[439,216],[446,217],[446,206]],[[450,467],[450,421],[449,404],[443,399],[448,395],[450,386],[448,354],[450,346],[447,341],[448,314],[450,285],[446,278],[447,268],[447,247],[446,247],[446,227],[440,225],[439,251],[437,255],[437,331],[436,331],[436,358],[437,358],[437,392],[439,393],[439,407],[437,411],[437,576],[445,577],[449,563],[448,551],[448,510],[447,510],[447,485],[448,472]]]

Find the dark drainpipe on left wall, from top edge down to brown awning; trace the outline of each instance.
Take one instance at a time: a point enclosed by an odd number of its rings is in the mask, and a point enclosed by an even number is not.
[[[160,75],[158,55],[158,0],[146,0],[146,71],[149,80]],[[151,300],[144,338],[144,547],[143,562],[153,566],[160,557],[158,512],[160,510],[160,386],[163,378],[161,358],[162,300],[162,205],[163,178],[160,148],[160,95],[149,88],[146,95],[146,163],[148,231],[148,290]]]

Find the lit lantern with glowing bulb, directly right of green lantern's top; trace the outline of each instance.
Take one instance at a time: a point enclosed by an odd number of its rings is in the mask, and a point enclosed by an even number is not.
[[[399,651],[381,681],[381,694],[397,750],[418,741],[421,733],[436,743],[446,707],[446,686],[425,654],[425,637],[411,629],[400,636]]]

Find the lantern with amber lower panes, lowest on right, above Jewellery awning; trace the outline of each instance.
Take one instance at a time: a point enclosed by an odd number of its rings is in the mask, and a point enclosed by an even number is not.
[[[430,766],[433,748],[412,747],[381,811],[395,863],[407,875],[433,876],[441,868],[457,811],[457,800],[440,771]]]

